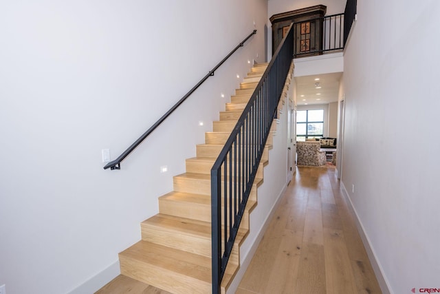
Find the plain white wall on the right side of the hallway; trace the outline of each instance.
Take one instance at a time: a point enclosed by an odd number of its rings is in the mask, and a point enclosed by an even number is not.
[[[396,4],[358,1],[342,182],[391,293],[418,293],[440,287],[440,3]]]

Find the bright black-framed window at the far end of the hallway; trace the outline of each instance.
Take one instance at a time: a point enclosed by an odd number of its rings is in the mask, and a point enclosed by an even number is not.
[[[324,109],[298,110],[296,112],[296,140],[324,136]]]

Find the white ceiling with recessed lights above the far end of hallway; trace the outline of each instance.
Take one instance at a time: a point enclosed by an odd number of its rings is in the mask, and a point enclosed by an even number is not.
[[[296,76],[296,104],[328,104],[338,101],[339,82],[342,72]],[[319,81],[315,81],[319,78]],[[319,83],[320,89],[316,88]]]

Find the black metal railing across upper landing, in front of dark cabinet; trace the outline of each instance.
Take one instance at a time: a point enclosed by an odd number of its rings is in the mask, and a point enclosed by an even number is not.
[[[294,23],[294,57],[344,49],[344,13]]]

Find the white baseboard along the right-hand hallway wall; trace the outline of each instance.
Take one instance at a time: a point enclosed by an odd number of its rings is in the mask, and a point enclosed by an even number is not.
[[[360,221],[360,218],[358,216],[358,212],[356,211],[355,207],[353,206],[353,202],[351,202],[351,198],[349,196],[349,193],[347,192],[347,189],[345,189],[344,182],[341,180],[341,187],[342,191],[344,192],[344,197],[349,200],[349,209],[353,212],[355,215],[355,222],[356,227],[358,227],[358,232],[360,235],[360,238],[362,239],[362,243],[364,244],[366,254],[369,255],[369,260],[371,262],[371,266],[373,267],[373,271],[376,275],[377,282],[379,283],[379,286],[382,290],[382,293],[384,294],[393,294],[393,291],[391,291],[391,286],[386,279],[386,275],[384,275],[384,270],[382,269],[382,266],[380,265],[379,260],[377,259],[377,255],[371,246],[371,242],[369,239],[369,236],[365,233],[364,226],[362,225],[362,222]]]

